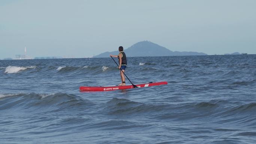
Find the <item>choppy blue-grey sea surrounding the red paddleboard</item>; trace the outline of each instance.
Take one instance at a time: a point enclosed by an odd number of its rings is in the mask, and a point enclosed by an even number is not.
[[[256,143],[256,55],[127,59],[0,60],[0,144]]]

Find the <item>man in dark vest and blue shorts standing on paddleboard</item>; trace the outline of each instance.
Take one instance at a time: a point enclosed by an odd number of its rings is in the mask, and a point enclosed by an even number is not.
[[[122,71],[125,72],[125,68],[127,66],[127,59],[126,59],[126,55],[124,53],[124,48],[122,46],[119,46],[118,50],[119,50],[118,55],[110,55],[110,56],[118,58],[118,61],[119,61],[118,68],[120,69],[120,76],[121,76],[121,80],[122,80],[122,83],[119,84],[119,86],[125,86],[125,77],[124,77],[124,73],[122,73]]]

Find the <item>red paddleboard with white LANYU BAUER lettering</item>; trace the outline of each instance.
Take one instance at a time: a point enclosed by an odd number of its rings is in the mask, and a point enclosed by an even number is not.
[[[136,84],[135,84],[136,85]],[[139,88],[148,87],[148,86],[158,86],[158,85],[167,85],[167,82],[150,82],[150,83],[143,83],[138,84]],[[126,86],[80,86],[80,91],[114,91],[120,89],[132,89],[132,85]]]

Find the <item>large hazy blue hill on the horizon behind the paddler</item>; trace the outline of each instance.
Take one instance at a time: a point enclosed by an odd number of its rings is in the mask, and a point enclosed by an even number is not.
[[[173,52],[163,46],[159,46],[155,43],[149,41],[138,42],[131,47],[124,50],[127,56],[177,56],[177,55],[207,55],[202,52]],[[94,56],[94,58],[105,58],[109,55],[117,55],[117,51],[104,52],[99,55]]]

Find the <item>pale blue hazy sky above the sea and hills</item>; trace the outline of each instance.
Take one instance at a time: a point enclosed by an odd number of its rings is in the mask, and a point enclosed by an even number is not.
[[[1,0],[0,59],[85,58],[148,40],[172,51],[256,54],[256,0]]]

